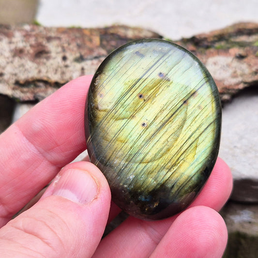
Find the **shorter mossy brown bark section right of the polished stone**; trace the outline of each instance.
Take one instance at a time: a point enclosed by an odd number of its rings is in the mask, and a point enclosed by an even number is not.
[[[208,68],[222,101],[250,86],[258,86],[258,24],[238,23],[222,30],[177,42]]]

